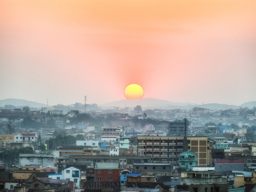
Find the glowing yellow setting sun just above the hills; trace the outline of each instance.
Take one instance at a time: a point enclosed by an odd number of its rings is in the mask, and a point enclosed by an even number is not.
[[[124,89],[126,99],[141,99],[143,95],[144,91],[138,84],[130,84]]]

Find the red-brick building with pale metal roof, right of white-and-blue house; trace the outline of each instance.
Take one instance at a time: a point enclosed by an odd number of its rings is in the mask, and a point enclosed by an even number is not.
[[[95,182],[119,182],[119,163],[95,163]]]

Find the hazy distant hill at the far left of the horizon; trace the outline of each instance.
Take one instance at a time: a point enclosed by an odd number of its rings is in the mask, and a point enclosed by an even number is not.
[[[5,105],[14,105],[14,106],[29,106],[32,108],[41,108],[46,107],[47,105],[43,103],[37,103],[34,101],[27,101],[24,99],[4,99],[0,100],[0,107],[4,107]]]

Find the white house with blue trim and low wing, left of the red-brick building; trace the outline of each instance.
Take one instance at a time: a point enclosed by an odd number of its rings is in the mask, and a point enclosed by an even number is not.
[[[61,173],[49,174],[51,179],[68,179],[74,182],[75,188],[81,188],[81,169],[76,167],[68,167],[62,170]]]

